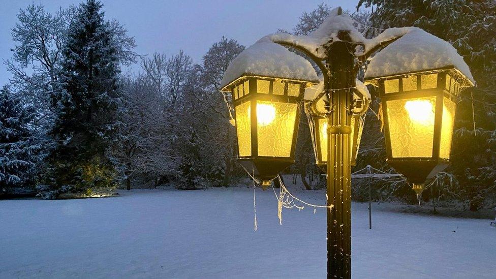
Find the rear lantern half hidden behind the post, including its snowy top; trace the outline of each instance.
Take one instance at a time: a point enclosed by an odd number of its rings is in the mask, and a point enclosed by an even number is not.
[[[370,95],[368,94],[368,90],[359,80],[356,81],[357,87],[361,90],[355,90],[353,94],[354,100],[354,111],[363,111],[368,108],[368,103],[370,101]],[[312,133],[312,140],[315,149],[315,159],[317,166],[319,166],[322,170],[325,171],[327,165],[327,117],[326,113],[329,110],[328,102],[325,93],[322,92],[323,83],[321,82],[318,85],[309,87],[305,91],[305,99],[313,99],[312,101],[308,101],[306,103],[306,112],[308,118],[311,119],[310,129]],[[315,92],[320,92],[316,98]],[[365,113],[360,113],[355,111],[356,113],[352,114],[350,128],[350,158],[351,165],[356,165],[356,159],[358,156],[358,148],[360,147],[360,140],[362,137],[363,124],[365,120]]]

